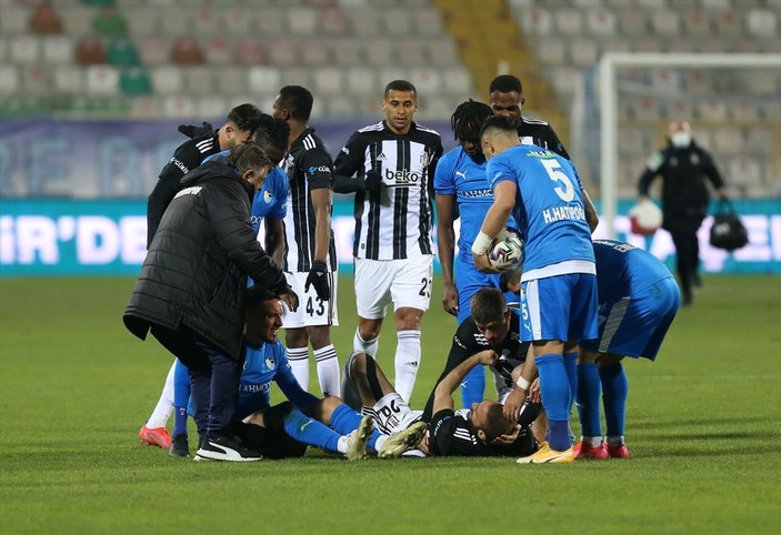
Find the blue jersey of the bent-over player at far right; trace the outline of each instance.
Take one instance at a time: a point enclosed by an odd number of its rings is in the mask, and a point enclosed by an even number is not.
[[[600,304],[639,297],[643,290],[672,276],[659,259],[629,243],[594,240],[594,256]]]

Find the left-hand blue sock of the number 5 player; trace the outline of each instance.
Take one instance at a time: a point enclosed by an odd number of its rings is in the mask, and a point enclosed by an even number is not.
[[[551,450],[563,452],[570,443],[570,381],[564,366],[564,357],[549,353],[534,359],[540,373],[542,405],[548,413]]]

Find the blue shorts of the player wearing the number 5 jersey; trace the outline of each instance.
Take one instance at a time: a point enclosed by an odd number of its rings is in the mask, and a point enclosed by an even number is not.
[[[521,340],[585,340],[598,333],[597,276],[569,273],[525,281],[521,293]]]

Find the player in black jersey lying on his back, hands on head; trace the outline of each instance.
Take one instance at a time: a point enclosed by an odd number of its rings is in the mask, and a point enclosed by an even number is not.
[[[531,423],[539,413],[539,405],[528,404],[521,420],[504,415],[502,405],[494,401],[472,404],[471,410],[453,411],[453,392],[463,377],[479,364],[495,364],[492,350],[478,352],[462,361],[433,392],[433,417],[428,421],[427,438],[418,446],[430,455],[530,455],[538,443]],[[386,432],[405,428],[422,417],[410,410],[395,392],[374,359],[366,353],[353,353],[346,370],[346,397],[360,398],[363,411],[371,414],[374,425]],[[352,391],[352,392],[351,392]]]

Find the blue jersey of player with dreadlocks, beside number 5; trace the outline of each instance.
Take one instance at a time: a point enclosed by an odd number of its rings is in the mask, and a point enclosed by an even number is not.
[[[477,163],[461,147],[448,151],[434,172],[434,191],[439,195],[454,195],[461,218],[459,261],[474,264],[472,242],[480,232],[485,212],[491,208],[493,193],[485,179],[485,162]]]

